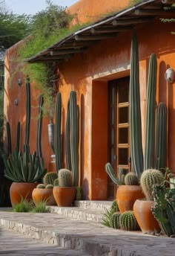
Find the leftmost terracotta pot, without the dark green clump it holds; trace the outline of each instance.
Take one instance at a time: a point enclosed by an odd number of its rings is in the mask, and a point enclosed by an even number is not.
[[[10,200],[12,205],[17,205],[23,199],[32,200],[33,189],[39,183],[13,182],[10,186]]]

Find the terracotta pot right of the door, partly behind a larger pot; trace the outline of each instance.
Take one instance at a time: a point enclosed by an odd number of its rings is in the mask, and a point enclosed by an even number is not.
[[[121,213],[124,211],[132,211],[136,199],[142,198],[145,198],[145,196],[140,186],[120,185],[116,191],[116,202]]]

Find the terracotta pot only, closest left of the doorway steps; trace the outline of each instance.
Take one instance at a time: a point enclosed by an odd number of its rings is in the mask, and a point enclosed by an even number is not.
[[[76,197],[76,187],[53,187],[53,196],[58,206],[71,206]]]

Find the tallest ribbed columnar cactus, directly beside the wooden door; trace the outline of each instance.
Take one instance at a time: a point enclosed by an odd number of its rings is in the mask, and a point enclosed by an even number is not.
[[[136,33],[131,43],[131,77],[130,77],[130,138],[131,163],[136,176],[143,170],[142,127],[139,96],[139,54]]]

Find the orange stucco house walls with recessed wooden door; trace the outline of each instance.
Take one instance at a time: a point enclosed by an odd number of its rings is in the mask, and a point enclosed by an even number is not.
[[[144,1],[136,6],[127,7],[129,3],[130,1],[114,0],[77,1],[69,10],[70,13],[77,13],[79,22],[87,22],[87,19],[95,20],[96,16],[112,10],[115,10],[116,13],[105,17],[102,22],[95,22],[84,31],[79,31],[78,34],[73,34],[71,40],[68,38],[67,42],[57,45],[57,51],[59,52],[63,49],[62,45],[64,49],[68,48],[68,44],[76,49],[77,46],[81,48],[81,42],[83,42],[82,45],[87,42],[85,51],[77,51],[73,57],[58,64],[58,72],[61,77],[58,87],[59,92],[62,93],[63,142],[65,141],[67,100],[72,89],[77,92],[80,109],[79,173],[81,179],[79,183],[82,186],[84,199],[105,200],[113,198],[115,188],[105,173],[105,164],[108,161],[113,164],[116,170],[118,167],[131,168],[130,161],[128,161],[128,158],[130,158],[128,94],[133,28],[136,30],[139,44],[143,148],[145,142],[148,63],[151,54],[155,53],[157,58],[156,102],[164,102],[168,107],[167,166],[173,170],[175,169],[175,83],[167,83],[165,80],[166,69],[175,69],[175,37],[170,33],[174,31],[174,25],[173,23],[162,23],[160,21],[159,18],[162,18],[162,15],[163,17],[166,16],[162,13],[162,8],[166,5],[162,1]],[[136,10],[141,11],[136,12]],[[12,78],[11,86],[8,86],[10,76],[16,69],[16,65],[10,60],[16,57],[16,49],[19,44],[10,48],[5,57],[4,115],[5,121],[10,122],[13,134],[13,149],[16,143],[16,125],[18,121],[22,124],[21,147],[24,144],[25,87],[19,86],[17,83],[20,78],[24,84],[23,74],[18,71]],[[42,60],[42,58],[39,59],[40,57],[34,57],[31,62]],[[39,91],[32,84],[31,150],[36,150],[38,95]],[[16,99],[18,99],[18,106],[14,104]],[[49,119],[44,118],[42,124],[42,151],[44,163],[49,169],[52,153],[47,135],[48,123]],[[6,146],[5,132],[4,139]],[[63,156],[63,166],[64,163],[65,156]]]

